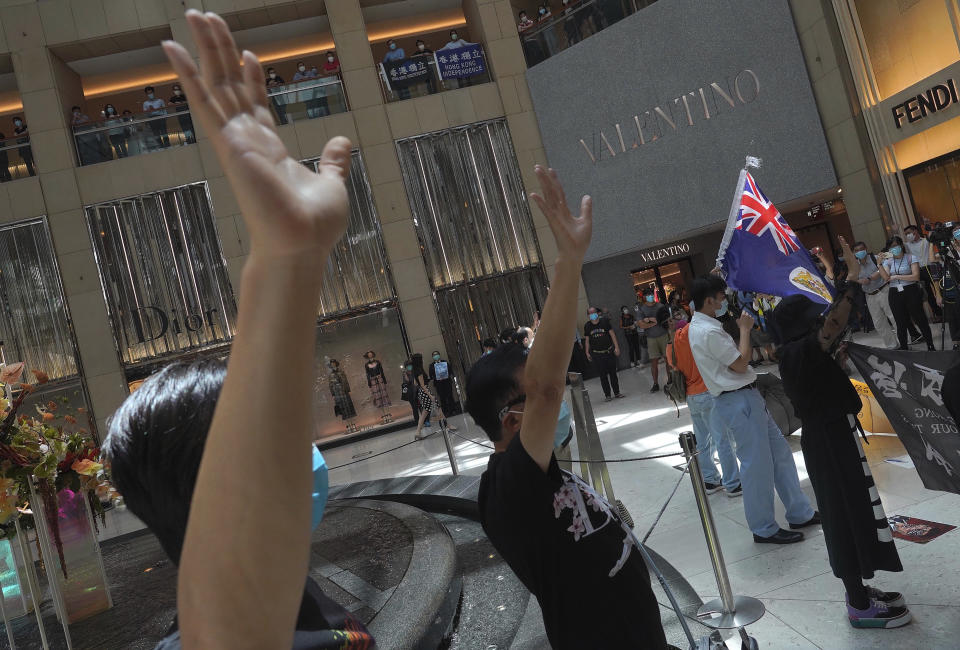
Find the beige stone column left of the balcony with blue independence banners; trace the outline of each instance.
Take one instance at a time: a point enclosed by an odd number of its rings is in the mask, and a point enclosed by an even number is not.
[[[360,2],[336,0],[326,7],[356,125],[354,143],[363,151],[410,351],[429,355],[431,350],[444,349],[443,337]],[[350,135],[329,126],[327,130],[331,136]]]

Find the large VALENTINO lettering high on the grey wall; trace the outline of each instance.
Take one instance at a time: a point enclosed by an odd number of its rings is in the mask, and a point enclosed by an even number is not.
[[[580,145],[596,163],[605,153],[611,158],[655,142],[678,128],[691,127],[718,114],[750,104],[760,95],[760,78],[753,70],[741,70],[723,83],[713,82],[694,91],[654,106],[628,118],[626,124],[614,124],[606,133],[602,129],[591,137],[591,144],[580,138]],[[609,135],[608,135],[609,134]]]

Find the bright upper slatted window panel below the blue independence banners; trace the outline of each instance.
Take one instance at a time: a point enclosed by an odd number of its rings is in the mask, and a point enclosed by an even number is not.
[[[435,289],[540,263],[505,120],[400,140],[397,148]]]

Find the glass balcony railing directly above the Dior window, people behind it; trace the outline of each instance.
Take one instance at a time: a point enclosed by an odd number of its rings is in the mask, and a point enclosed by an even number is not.
[[[193,119],[185,104],[161,110],[160,115],[126,113],[75,125],[73,140],[80,165],[95,165],[197,141]]]

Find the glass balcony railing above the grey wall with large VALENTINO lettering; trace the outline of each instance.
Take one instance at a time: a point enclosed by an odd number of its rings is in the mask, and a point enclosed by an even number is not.
[[[643,9],[656,0],[571,1],[544,21],[520,31],[520,43],[531,68],[571,45]]]

